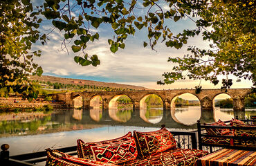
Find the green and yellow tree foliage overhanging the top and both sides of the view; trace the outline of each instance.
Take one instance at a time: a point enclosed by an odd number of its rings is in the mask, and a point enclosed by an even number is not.
[[[219,83],[217,76],[226,75],[223,88],[229,88],[232,74],[252,80],[255,84],[255,1],[237,0],[45,0],[34,6],[30,0],[3,0],[0,2],[0,88],[13,87],[13,91],[33,95],[33,86],[28,82],[28,74],[42,75],[42,68],[33,63],[33,57],[41,51],[31,51],[32,44],[48,39],[37,30],[42,19],[48,19],[60,30],[63,46],[71,42],[71,50],[80,53],[74,60],[82,66],[97,66],[97,55],[88,55],[86,45],[100,38],[90,28],[101,24],[111,24],[115,33],[108,39],[113,53],[125,48],[125,39],[136,30],[147,29],[147,41],[153,50],[159,40],[167,47],[181,48],[189,37],[201,34],[210,40],[210,50],[190,46],[192,55],[169,58],[177,63],[172,72],[163,74],[164,80],[158,84],[172,84],[177,80],[209,80]],[[143,5],[141,8],[140,4]],[[164,6],[169,6],[163,10]],[[75,13],[75,16],[72,14]],[[196,20],[196,28],[175,34],[170,21],[177,22],[185,17]],[[212,30],[206,30],[212,28]],[[66,48],[68,50],[68,48]],[[186,73],[185,73],[186,72]],[[201,86],[197,86],[199,89]],[[200,92],[200,91],[199,91]]]

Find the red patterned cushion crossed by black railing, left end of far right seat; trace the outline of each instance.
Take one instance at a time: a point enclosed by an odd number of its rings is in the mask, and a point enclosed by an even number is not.
[[[208,123],[205,125],[212,125],[212,126],[227,126],[225,122],[218,120],[218,122]],[[228,135],[230,133],[230,129],[217,129],[217,128],[205,128],[208,135],[217,136],[217,135]]]

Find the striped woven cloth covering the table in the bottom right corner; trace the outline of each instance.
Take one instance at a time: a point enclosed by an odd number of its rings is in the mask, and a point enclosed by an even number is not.
[[[198,166],[256,165],[256,151],[220,149],[197,160]]]

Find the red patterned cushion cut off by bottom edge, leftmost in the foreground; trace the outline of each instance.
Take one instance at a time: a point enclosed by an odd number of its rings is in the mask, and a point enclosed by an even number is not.
[[[114,166],[113,164],[102,163],[95,160],[87,160],[84,158],[76,158],[68,154],[64,154],[57,150],[46,149],[47,151],[47,160],[46,166],[86,166],[86,165],[105,165],[105,166]]]

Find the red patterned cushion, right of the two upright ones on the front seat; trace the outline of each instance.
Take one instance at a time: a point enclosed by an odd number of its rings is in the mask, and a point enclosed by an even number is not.
[[[134,131],[134,138],[136,139],[140,158],[146,158],[158,152],[176,148],[176,141],[172,133],[165,128],[152,132]]]

